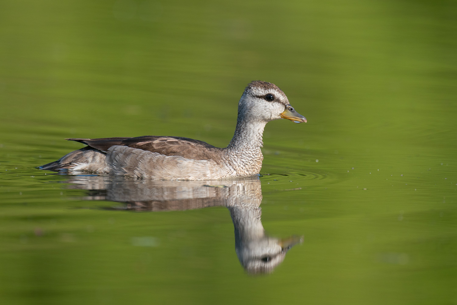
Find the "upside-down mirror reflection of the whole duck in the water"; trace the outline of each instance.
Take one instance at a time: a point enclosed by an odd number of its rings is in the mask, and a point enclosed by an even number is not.
[[[270,273],[301,242],[300,237],[278,239],[265,234],[260,221],[262,189],[260,180],[237,181],[158,181],[111,180],[109,177],[74,177],[70,188],[92,190],[89,200],[124,203],[135,211],[171,211],[225,206],[235,228],[235,250],[248,273]]]

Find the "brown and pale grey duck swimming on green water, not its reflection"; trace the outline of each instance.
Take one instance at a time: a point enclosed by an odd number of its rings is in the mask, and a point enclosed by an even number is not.
[[[281,89],[256,80],[246,87],[239,100],[235,134],[226,148],[183,137],[69,139],[88,146],[40,168],[164,180],[254,176],[262,166],[263,129],[266,123],[279,118],[306,122],[290,106]]]

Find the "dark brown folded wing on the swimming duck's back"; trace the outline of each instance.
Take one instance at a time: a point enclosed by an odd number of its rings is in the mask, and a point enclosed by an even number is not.
[[[67,139],[77,141],[97,150],[107,152],[113,145],[128,146],[148,150],[162,155],[179,155],[188,159],[217,159],[217,152],[222,148],[206,142],[185,137],[146,135],[135,138]],[[215,154],[216,153],[216,154]]]

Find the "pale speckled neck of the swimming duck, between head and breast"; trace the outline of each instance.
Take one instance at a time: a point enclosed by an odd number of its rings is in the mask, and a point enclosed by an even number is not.
[[[255,150],[263,146],[262,135],[266,122],[249,121],[239,117],[235,134],[228,144],[234,150]]]

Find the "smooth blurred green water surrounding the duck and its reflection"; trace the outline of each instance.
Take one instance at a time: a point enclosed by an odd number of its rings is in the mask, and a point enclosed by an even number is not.
[[[452,0],[1,0],[1,303],[457,304],[456,54]],[[304,235],[271,275],[225,208],[101,210],[34,169],[64,138],[224,147],[255,79],[308,119],[264,134],[263,225]]]

